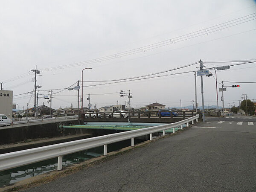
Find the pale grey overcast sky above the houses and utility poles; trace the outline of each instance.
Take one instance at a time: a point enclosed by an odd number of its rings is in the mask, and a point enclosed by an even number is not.
[[[247,22],[222,30],[215,29],[208,35],[191,36],[174,44],[97,62],[97,58],[205,30],[239,17],[247,19],[244,16],[255,12],[256,2],[253,0],[1,0],[0,82],[3,82],[4,90],[13,90],[13,102],[20,108],[28,102],[29,107],[33,107],[33,95],[15,95],[33,90],[33,74],[29,71],[36,64],[42,75],[38,76],[37,84],[42,86],[38,90],[53,89],[52,108],[69,107],[71,104],[76,108],[76,90],[57,93],[60,90],[55,89],[81,81],[81,70],[86,67],[93,69],[84,70],[83,80],[100,81],[143,76],[192,64],[199,59],[256,59],[256,20],[244,20]],[[256,18],[253,16],[250,19]],[[95,62],[83,63],[89,60]],[[75,63],[78,63],[75,67],[63,67]],[[209,68],[229,64],[204,65]],[[198,66],[195,64],[160,75],[198,70]],[[54,67],[59,69],[54,70]],[[217,80],[256,81],[256,63],[217,71]],[[99,83],[84,82],[84,86],[92,84]],[[224,83],[224,86],[232,84]],[[240,88],[228,87],[224,93],[225,107],[228,102],[230,106],[233,102],[239,105],[241,95],[245,93],[249,99],[256,99],[256,84],[238,84]],[[221,84],[218,84],[219,87]],[[131,107],[134,108],[152,102],[166,107],[180,106],[180,99],[183,106],[192,105],[191,101],[195,100],[194,73],[84,87],[84,106],[88,105],[88,93],[91,94],[92,105],[96,104],[97,108],[115,105],[117,100],[119,104],[125,104],[128,98],[120,97],[116,92],[129,89],[133,95]],[[201,106],[200,91],[200,78],[197,77]],[[47,91],[39,93],[49,94]],[[217,104],[212,76],[204,76],[204,99],[205,105]],[[38,104],[43,102],[49,106],[47,99],[39,98]]]

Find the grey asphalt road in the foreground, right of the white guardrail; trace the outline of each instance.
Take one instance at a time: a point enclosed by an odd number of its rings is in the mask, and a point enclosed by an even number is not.
[[[209,118],[27,191],[256,191],[256,123],[228,122]]]

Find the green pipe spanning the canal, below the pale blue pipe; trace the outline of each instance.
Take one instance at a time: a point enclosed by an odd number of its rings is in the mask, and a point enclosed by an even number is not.
[[[120,131],[132,131],[142,128],[147,128],[147,126],[131,126],[131,125],[60,125],[60,128],[84,128],[84,129],[105,129],[105,130],[120,130]],[[175,128],[177,131],[179,128]],[[159,131],[163,133],[163,131]],[[173,129],[167,129],[166,133],[172,133]]]

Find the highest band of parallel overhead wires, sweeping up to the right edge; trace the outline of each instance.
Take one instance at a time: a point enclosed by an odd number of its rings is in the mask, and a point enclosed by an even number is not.
[[[119,53],[116,53],[116,54],[112,54],[112,55],[108,55],[108,56],[104,56],[104,57],[100,57],[100,58],[90,59],[90,60],[87,60],[87,61],[81,61],[81,62],[62,65],[62,66],[57,66],[57,67],[49,67],[49,68],[42,69],[42,71],[58,70],[58,69],[64,69],[64,68],[67,68],[67,67],[76,67],[76,66],[80,66],[80,65],[84,65],[84,64],[93,64],[93,63],[96,63],[96,62],[107,61],[107,60],[114,59],[114,58],[120,58],[120,57],[123,57],[123,56],[136,54],[138,52],[145,52],[145,51],[148,51],[148,50],[151,50],[151,49],[156,49],[156,48],[159,48],[159,47],[163,47],[163,46],[166,46],[166,45],[169,45],[169,44],[175,44],[175,43],[180,42],[180,41],[185,41],[185,40],[188,40],[188,39],[191,39],[191,38],[196,38],[196,37],[199,37],[201,35],[208,35],[209,33],[212,33],[212,32],[216,32],[216,31],[219,31],[219,30],[222,30],[222,29],[226,29],[226,28],[229,28],[229,27],[232,27],[232,26],[236,26],[236,25],[239,25],[239,24],[242,24],[242,23],[249,22],[251,20],[255,20],[256,19],[255,14],[256,13],[245,15],[243,17],[239,17],[239,18],[236,18],[234,20],[230,20],[230,21],[227,21],[227,22],[224,22],[224,23],[220,23],[218,25],[207,27],[207,28],[195,31],[195,32],[188,33],[186,35],[180,35],[180,36],[177,36],[175,38],[171,38],[171,39],[168,39],[168,40],[165,40],[165,41],[160,41],[160,42],[150,44],[150,45],[147,45],[147,46],[131,49],[131,50],[124,51],[124,52],[119,52]],[[249,16],[251,16],[251,17],[249,17]]]

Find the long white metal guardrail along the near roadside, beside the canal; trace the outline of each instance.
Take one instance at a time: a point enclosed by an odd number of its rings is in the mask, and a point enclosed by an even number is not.
[[[103,155],[107,155],[107,146],[110,143],[116,143],[119,141],[131,139],[131,146],[134,146],[135,137],[150,134],[150,140],[152,140],[153,133],[155,132],[163,131],[163,136],[165,136],[165,130],[173,128],[173,133],[175,133],[175,127],[180,126],[180,128],[183,129],[183,124],[189,126],[189,122],[192,122],[192,124],[194,124],[194,120],[196,119],[196,121],[198,122],[198,118],[199,115],[196,115],[188,119],[184,119],[182,121],[167,125],[157,125],[149,128],[125,131],[99,137],[87,138],[83,140],[70,141],[66,143],[59,143],[55,145],[48,145],[44,147],[0,154],[0,171],[28,165],[31,163],[36,163],[47,159],[52,159],[54,157],[58,157],[57,170],[61,170],[63,155],[72,154],[78,151],[83,151],[102,145],[104,146]]]

